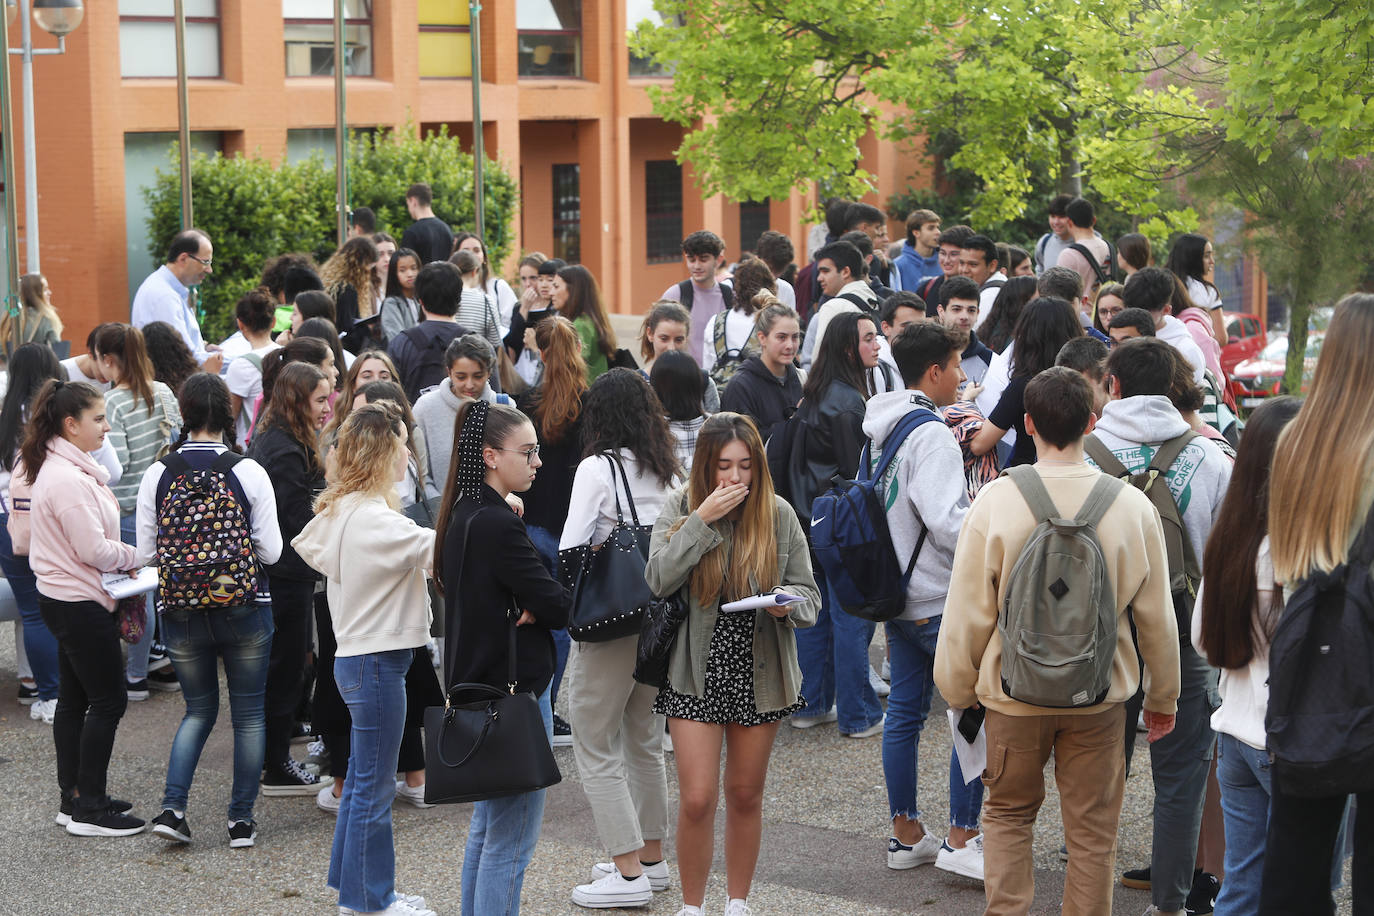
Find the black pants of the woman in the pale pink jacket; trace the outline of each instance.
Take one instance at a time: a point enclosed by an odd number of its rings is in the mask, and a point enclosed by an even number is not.
[[[38,595],[43,622],[58,640],[58,710],[52,743],[58,787],[80,812],[109,803],[106,776],[114,732],[129,705],[124,655],[114,614],[95,602],[58,602]]]

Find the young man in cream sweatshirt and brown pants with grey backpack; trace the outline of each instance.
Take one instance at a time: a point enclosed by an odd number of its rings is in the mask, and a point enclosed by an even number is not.
[[[965,518],[934,681],[951,707],[987,710],[985,912],[1032,906],[1032,828],[1052,753],[1069,849],[1062,912],[1101,916],[1125,787],[1124,703],[1140,680],[1132,626],[1151,672],[1150,740],[1173,728],[1179,633],[1154,508],[1083,460],[1087,380],[1046,369],[1025,408],[1039,460],[984,486]]]

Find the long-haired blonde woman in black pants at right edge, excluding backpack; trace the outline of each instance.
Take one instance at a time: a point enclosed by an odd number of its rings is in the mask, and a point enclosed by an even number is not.
[[[1270,482],[1274,580],[1285,589],[1334,570],[1351,556],[1374,501],[1374,295],[1336,304],[1312,387],[1279,437]],[[1272,685],[1271,685],[1272,687]],[[1369,731],[1369,722],[1349,722]],[[1331,860],[1345,797],[1297,798],[1278,784],[1260,913],[1330,913]],[[1374,794],[1359,795],[1355,824],[1355,912],[1369,906],[1374,876]]]

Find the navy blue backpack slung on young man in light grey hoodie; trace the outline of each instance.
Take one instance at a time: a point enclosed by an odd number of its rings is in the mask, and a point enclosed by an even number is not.
[[[911,411],[888,434],[882,459],[870,472],[871,442],[864,442],[859,456],[859,475],[846,481],[840,475],[831,488],[811,504],[811,548],[835,591],[845,612],[881,623],[901,615],[907,606],[907,582],[916,566],[925,530],[911,552],[905,570],[897,560],[888,530],[878,482],[897,457],[901,444],[918,427],[943,423],[940,415],[918,408]]]

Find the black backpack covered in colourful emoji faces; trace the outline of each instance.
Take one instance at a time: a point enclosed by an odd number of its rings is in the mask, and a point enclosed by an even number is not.
[[[239,607],[257,596],[247,499],[232,475],[240,455],[225,452],[194,468],[180,452],[162,459],[158,486],[158,603],[210,611]]]

